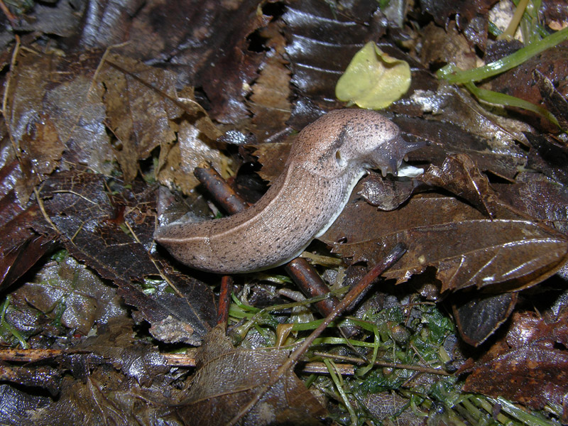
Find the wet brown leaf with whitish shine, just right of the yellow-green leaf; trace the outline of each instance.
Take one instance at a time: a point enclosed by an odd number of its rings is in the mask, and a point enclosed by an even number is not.
[[[525,133],[530,132],[530,126],[491,114],[455,87],[444,83],[435,91],[415,87],[402,102],[404,111],[416,110],[415,114],[424,118],[394,117],[403,136],[410,142],[430,141],[430,146],[411,153],[413,160],[442,165],[448,154],[466,153],[479,170],[489,170],[507,180],[513,180],[527,163],[527,154],[518,142],[529,144]],[[403,112],[401,107],[393,105]]]

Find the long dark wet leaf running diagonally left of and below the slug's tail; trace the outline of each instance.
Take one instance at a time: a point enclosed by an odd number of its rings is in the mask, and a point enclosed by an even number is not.
[[[106,185],[114,185],[117,194]],[[147,187],[139,190],[94,173],[64,172],[45,182],[40,197],[67,250],[119,285],[124,300],[157,327],[156,338],[199,344],[216,316],[212,291],[150,255],[155,195]],[[141,283],[154,275],[168,278],[178,294],[165,283],[145,293]]]

